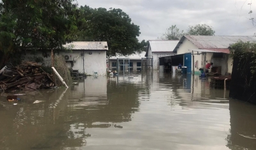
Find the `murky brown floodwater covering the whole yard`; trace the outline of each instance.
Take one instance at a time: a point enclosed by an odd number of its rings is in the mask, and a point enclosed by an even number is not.
[[[171,73],[93,76],[6,101],[0,149],[256,149],[256,106]]]

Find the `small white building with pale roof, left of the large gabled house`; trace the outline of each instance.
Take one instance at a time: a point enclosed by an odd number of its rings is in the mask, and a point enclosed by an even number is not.
[[[159,57],[173,56],[173,52],[179,40],[149,40],[145,57],[148,58],[148,65],[153,70],[159,70]],[[165,60],[167,61],[167,60]]]

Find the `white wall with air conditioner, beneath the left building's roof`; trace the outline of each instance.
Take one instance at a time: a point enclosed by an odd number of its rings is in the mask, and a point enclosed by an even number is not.
[[[92,54],[89,54],[92,52]],[[83,65],[83,50],[73,50],[72,52],[60,52],[60,55],[68,55],[72,57],[77,57],[77,60],[74,62],[73,70],[79,70],[80,73],[83,71],[87,75],[94,75],[97,72],[97,75],[106,75],[106,50],[85,50],[84,51],[84,65]],[[44,58],[44,65],[51,66],[51,57],[43,57],[42,53],[38,52],[36,55],[27,54],[25,56],[26,60],[31,60],[33,57],[42,57]],[[71,67],[70,62],[66,62],[68,68]]]

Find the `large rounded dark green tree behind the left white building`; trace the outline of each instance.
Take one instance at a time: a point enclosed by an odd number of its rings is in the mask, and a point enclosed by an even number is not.
[[[140,27],[120,9],[81,6],[77,16],[75,41],[108,41],[108,56],[128,55],[140,51],[145,41],[138,42]]]

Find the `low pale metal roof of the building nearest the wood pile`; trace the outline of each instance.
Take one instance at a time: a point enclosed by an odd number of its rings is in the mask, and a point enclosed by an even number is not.
[[[63,47],[70,47],[72,50],[108,50],[108,43],[106,41],[73,41]]]

